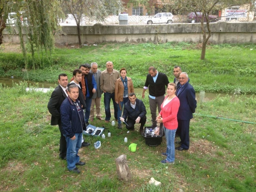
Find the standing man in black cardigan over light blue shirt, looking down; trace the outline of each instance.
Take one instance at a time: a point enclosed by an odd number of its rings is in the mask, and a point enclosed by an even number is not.
[[[148,75],[142,91],[142,98],[145,98],[145,91],[149,91],[149,107],[151,112],[152,126],[156,127],[156,107],[158,113],[161,111],[161,104],[164,101],[165,86],[169,84],[168,77],[160,73],[154,67],[148,68]]]

